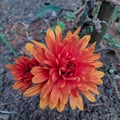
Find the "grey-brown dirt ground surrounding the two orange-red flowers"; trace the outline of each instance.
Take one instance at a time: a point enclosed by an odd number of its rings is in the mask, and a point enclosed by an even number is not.
[[[80,1],[0,0],[0,33],[6,36],[18,55],[23,55],[25,43],[30,38],[44,40],[40,30],[48,26],[36,17],[41,6],[50,3],[75,11],[81,5]],[[115,24],[119,23],[114,22],[108,33],[119,40],[120,33]],[[4,65],[12,63],[14,55],[0,40],[0,120],[120,120],[120,48],[109,47],[103,40],[97,51],[102,55],[104,67],[101,69],[106,75],[104,84],[99,86],[100,95],[96,96],[96,102],[84,99],[84,111],[71,110],[67,105],[59,113],[49,108],[41,110],[39,96],[25,98],[12,89],[13,77]]]

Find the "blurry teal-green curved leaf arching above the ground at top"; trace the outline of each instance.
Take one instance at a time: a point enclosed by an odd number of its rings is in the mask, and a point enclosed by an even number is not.
[[[44,18],[45,16],[49,16],[49,14],[59,14],[61,8],[55,5],[44,5],[41,7],[37,13],[38,18]]]

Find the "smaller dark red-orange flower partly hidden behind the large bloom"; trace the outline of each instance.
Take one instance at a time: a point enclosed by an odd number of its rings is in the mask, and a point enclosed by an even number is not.
[[[38,62],[34,58],[28,58],[20,56],[15,58],[15,64],[8,64],[6,68],[11,70],[11,74],[15,76],[16,81],[13,85],[13,89],[20,89],[20,92],[24,92],[32,85],[33,75],[30,72],[31,69],[38,65]]]

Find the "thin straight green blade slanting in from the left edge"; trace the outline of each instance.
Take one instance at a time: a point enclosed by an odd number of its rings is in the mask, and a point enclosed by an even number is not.
[[[12,48],[12,46],[10,45],[10,43],[7,41],[7,39],[5,38],[5,36],[3,34],[0,34],[0,39],[10,49],[10,51],[13,53],[13,55],[15,57],[18,57],[18,54],[15,52],[15,50]]]

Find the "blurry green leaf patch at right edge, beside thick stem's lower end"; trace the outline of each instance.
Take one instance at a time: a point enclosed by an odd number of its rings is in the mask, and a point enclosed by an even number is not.
[[[110,34],[105,34],[104,39],[109,41],[110,46],[117,47],[117,48],[120,47],[120,41],[116,41],[115,38],[110,36]]]

